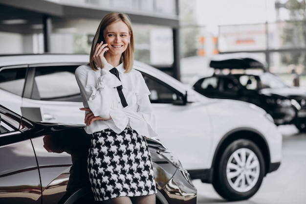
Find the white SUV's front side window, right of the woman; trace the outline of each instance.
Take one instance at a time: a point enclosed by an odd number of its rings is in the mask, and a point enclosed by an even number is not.
[[[151,103],[183,103],[183,95],[152,76],[143,73],[143,77],[151,92]]]

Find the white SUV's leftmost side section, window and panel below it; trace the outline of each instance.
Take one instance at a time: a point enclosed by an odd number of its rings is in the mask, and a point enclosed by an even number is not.
[[[1,105],[21,114],[27,65],[0,68]]]

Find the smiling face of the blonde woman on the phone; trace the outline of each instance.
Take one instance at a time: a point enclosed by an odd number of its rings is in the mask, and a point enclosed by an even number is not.
[[[104,29],[104,39],[108,44],[107,54],[120,55],[127,49],[131,35],[128,26],[122,21],[109,24]]]

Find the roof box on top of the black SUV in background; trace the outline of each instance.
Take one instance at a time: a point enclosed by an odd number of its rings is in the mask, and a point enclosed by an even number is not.
[[[215,55],[211,57],[209,66],[215,69],[262,69],[267,71],[267,63],[251,53]]]

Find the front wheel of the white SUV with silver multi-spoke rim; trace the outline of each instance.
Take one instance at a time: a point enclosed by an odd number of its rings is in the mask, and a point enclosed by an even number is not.
[[[216,166],[213,186],[229,201],[252,197],[262,184],[264,160],[258,146],[247,139],[233,141]]]

